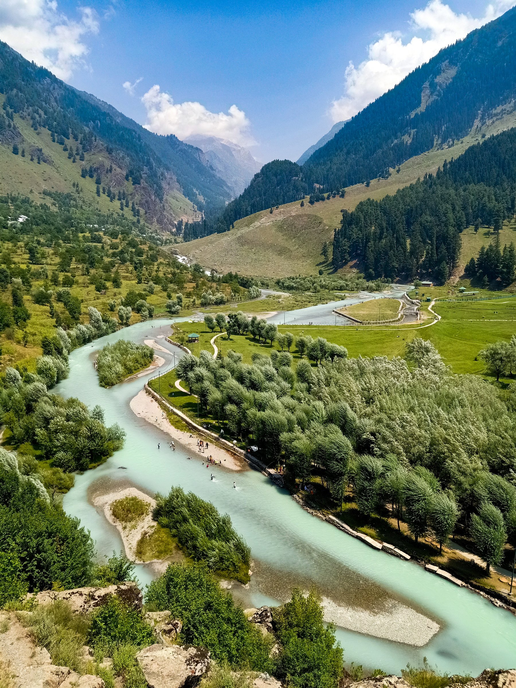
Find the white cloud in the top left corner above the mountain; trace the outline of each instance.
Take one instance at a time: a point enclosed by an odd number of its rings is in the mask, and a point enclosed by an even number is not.
[[[81,7],[80,19],[58,12],[56,0],[1,0],[0,39],[28,60],[67,79],[88,52],[85,34],[98,32],[96,12]]]

